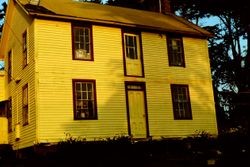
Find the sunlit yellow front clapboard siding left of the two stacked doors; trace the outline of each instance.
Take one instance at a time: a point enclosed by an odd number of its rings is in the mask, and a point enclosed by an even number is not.
[[[39,141],[127,134],[121,30],[93,34],[94,61],[72,60],[71,23],[36,20]],[[98,120],[73,120],[72,79],[96,80]]]

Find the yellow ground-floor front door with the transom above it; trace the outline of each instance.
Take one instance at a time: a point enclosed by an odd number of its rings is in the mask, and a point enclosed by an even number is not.
[[[145,103],[145,85],[141,83],[126,84],[129,134],[133,138],[146,138],[147,113]]]

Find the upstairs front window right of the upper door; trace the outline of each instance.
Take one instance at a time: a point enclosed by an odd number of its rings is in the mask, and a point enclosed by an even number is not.
[[[167,37],[169,66],[185,67],[183,41],[181,37]]]

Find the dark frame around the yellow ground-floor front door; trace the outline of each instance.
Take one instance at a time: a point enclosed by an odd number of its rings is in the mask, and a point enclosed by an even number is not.
[[[141,86],[142,89],[129,89],[129,85],[138,85]],[[134,91],[143,91],[144,92],[144,107],[145,107],[145,123],[146,123],[146,138],[150,137],[149,133],[149,123],[148,123],[148,107],[147,107],[147,96],[146,96],[146,84],[145,82],[131,82],[131,81],[125,81],[125,94],[126,94],[126,107],[127,107],[127,121],[128,121],[128,135],[132,136],[131,134],[131,126],[130,126],[130,111],[129,111],[129,100],[128,100],[128,91],[134,90]]]

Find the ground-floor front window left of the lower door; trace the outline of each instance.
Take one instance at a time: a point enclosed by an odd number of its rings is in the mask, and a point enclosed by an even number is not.
[[[73,80],[74,119],[97,119],[94,80]]]

